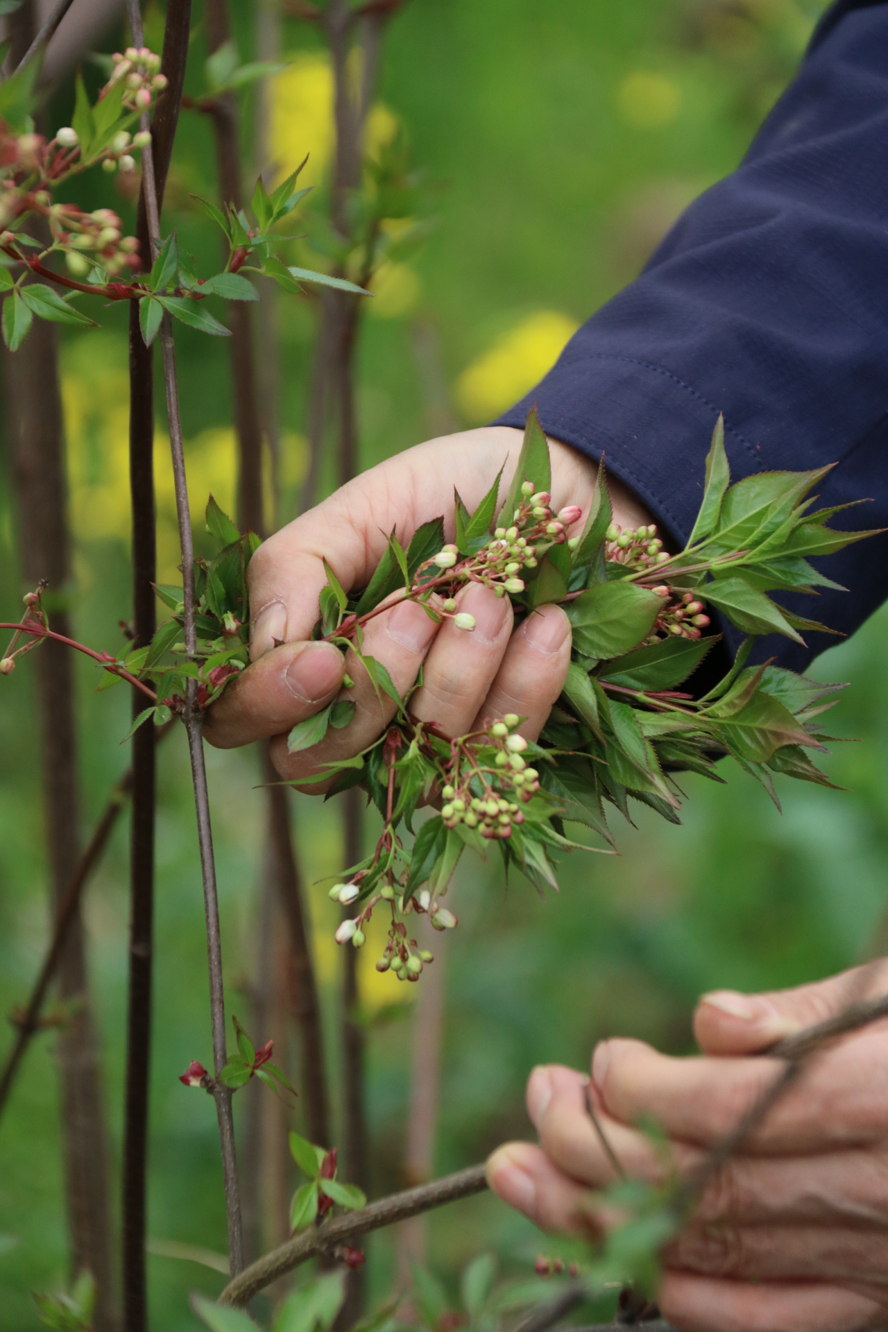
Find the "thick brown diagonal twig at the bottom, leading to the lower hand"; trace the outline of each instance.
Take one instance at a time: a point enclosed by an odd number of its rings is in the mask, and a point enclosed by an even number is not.
[[[397,1221],[405,1221],[409,1216],[418,1216],[419,1212],[443,1207],[445,1203],[453,1203],[459,1197],[471,1197],[473,1193],[482,1193],[486,1188],[485,1167],[471,1166],[469,1169],[457,1171],[455,1175],[445,1175],[443,1179],[437,1179],[431,1184],[421,1184],[418,1188],[407,1188],[401,1193],[381,1197],[361,1211],[337,1216],[325,1225],[302,1231],[296,1239],[281,1244],[280,1248],[252,1263],[238,1277],[229,1281],[218,1297],[220,1304],[246,1304],[257,1291],[262,1291],[272,1281],[292,1272],[294,1267],[306,1263],[318,1253],[330,1253],[338,1244],[353,1240],[358,1235],[367,1235],[385,1225],[394,1225]]]

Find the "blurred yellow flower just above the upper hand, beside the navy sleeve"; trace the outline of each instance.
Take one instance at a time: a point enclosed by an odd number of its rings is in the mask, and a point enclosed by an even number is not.
[[[499,337],[457,380],[457,405],[466,420],[487,421],[533,389],[578,328],[570,314],[538,310]]]

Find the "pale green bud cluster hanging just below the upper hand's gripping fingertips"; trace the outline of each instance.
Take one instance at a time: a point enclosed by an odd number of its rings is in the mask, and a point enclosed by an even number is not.
[[[497,751],[494,766],[477,765],[458,785],[442,789],[441,817],[446,827],[465,823],[487,839],[510,838],[513,827],[525,822],[521,805],[539,790],[539,773],[527,766],[527,741],[515,733],[519,721],[517,713],[506,713],[502,721],[487,725],[483,743]],[[477,790],[479,775],[487,778],[483,791]]]

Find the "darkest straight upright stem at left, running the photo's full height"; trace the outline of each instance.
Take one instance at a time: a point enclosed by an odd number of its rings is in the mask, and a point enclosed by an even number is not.
[[[142,45],[138,0],[128,0],[133,41]],[[137,236],[142,266],[149,268],[160,240],[164,186],[178,124],[188,60],[190,3],[169,7],[161,72],[168,87],[142,153]],[[148,116],[142,116],[148,129]],[[149,226],[149,214],[153,225]],[[132,502],[133,646],[144,647],[157,627],[153,582],[157,577],[154,506],[153,349],[138,328],[138,305],[129,306],[129,489]],[[133,690],[133,717],[144,706]],[[150,1091],[152,975],[154,915],[156,758],[150,722],[133,735],[133,813],[129,844],[129,992],[126,1007],[126,1084],[122,1152],[122,1295],[125,1332],[148,1329],[145,1224],[148,1207],[148,1106]]]

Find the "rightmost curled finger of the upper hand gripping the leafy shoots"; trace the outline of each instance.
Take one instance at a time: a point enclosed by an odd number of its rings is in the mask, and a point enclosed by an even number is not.
[[[525,739],[535,741],[560,694],[570,666],[570,621],[560,606],[531,611],[514,633],[490,693],[473,721],[517,713]]]

